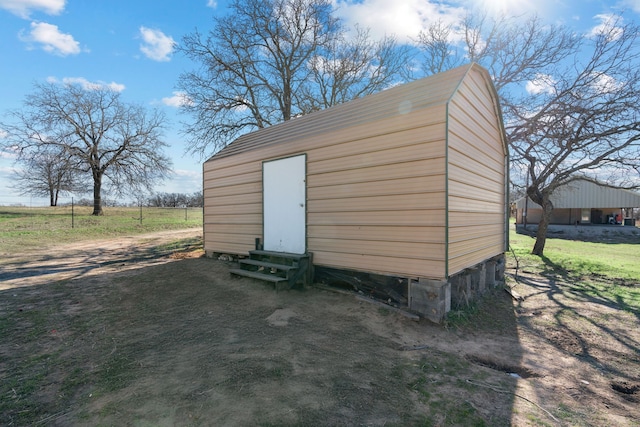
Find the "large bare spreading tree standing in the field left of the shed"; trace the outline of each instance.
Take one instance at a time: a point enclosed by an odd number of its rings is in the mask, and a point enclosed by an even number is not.
[[[19,160],[54,151],[91,176],[93,215],[102,215],[105,184],[117,193],[150,188],[171,167],[162,154],[164,116],[126,104],[119,93],[104,87],[36,84],[24,108],[9,115],[14,120],[2,124],[8,133],[5,145],[18,153]]]

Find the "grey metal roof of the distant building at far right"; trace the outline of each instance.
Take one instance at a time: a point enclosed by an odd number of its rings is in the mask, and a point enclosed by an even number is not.
[[[598,185],[584,179],[559,187],[551,196],[556,209],[586,208],[637,208],[640,207],[640,193],[630,190]],[[524,209],[525,198],[516,201],[517,209]],[[540,206],[529,199],[529,209]]]

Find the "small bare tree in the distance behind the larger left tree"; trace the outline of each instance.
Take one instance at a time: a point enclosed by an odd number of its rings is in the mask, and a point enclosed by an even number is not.
[[[23,168],[15,172],[14,187],[23,195],[48,197],[50,206],[57,206],[60,195],[80,188],[77,171],[64,153],[44,150],[22,163]]]

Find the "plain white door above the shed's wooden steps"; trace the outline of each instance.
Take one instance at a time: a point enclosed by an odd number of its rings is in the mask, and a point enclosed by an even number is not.
[[[306,155],[262,164],[264,249],[306,251]]]

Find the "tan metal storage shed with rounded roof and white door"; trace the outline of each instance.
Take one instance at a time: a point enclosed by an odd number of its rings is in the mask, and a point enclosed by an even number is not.
[[[477,64],[298,117],[204,163],[204,249],[312,253],[316,271],[404,279],[410,307],[434,285],[438,317],[452,276],[505,252],[507,153]]]

